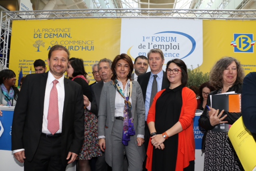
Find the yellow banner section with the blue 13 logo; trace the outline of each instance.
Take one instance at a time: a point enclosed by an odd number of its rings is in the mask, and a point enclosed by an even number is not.
[[[246,74],[256,72],[255,28],[256,21],[204,20],[200,70],[210,72],[220,58],[232,56],[241,62]]]

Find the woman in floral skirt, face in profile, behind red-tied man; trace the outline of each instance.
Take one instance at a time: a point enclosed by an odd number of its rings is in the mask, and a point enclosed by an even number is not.
[[[68,77],[74,82],[77,82],[82,86],[83,94],[92,100],[92,94],[90,87],[85,78],[86,72],[84,70],[83,60],[78,58],[70,58],[67,70]],[[77,157],[78,170],[90,171],[89,161],[92,157],[98,157],[102,155],[98,146],[98,119],[93,113],[84,110],[84,143],[81,151]]]

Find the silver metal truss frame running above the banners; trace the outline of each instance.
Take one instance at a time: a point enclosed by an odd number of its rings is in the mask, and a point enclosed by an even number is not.
[[[51,11],[2,11],[0,19],[0,65],[6,69],[10,52],[9,37],[13,20],[50,20],[73,18],[176,18],[204,20],[256,20],[256,10],[198,9],[84,9]]]

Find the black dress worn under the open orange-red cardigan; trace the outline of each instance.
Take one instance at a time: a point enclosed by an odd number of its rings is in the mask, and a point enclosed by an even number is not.
[[[163,133],[176,124],[182,108],[182,88],[166,89],[156,101],[155,128]],[[164,150],[154,149],[152,171],[175,171],[178,153],[178,134],[164,141]]]

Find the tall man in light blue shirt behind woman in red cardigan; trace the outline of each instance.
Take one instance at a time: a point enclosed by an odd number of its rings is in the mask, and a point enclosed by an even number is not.
[[[166,73],[162,70],[162,66],[164,64],[164,54],[160,49],[152,49],[148,52],[148,64],[151,72],[147,72],[146,74],[142,74],[138,76],[138,82],[142,89],[142,94],[145,102],[146,108],[146,117],[145,121],[147,121],[148,110],[150,108],[150,98],[152,92],[152,84],[154,81],[154,75],[156,75],[157,82],[157,91],[167,88],[170,84],[167,81]],[[150,139],[150,133],[148,129],[147,122],[145,123],[145,136],[144,136],[144,147],[145,151],[148,149],[148,142]],[[146,159],[143,163],[143,170],[146,170]]]

